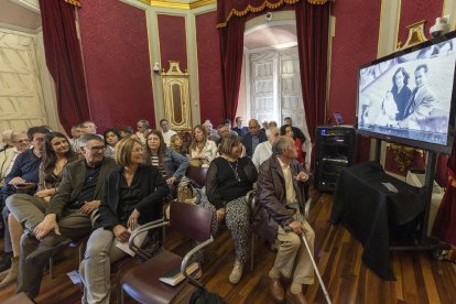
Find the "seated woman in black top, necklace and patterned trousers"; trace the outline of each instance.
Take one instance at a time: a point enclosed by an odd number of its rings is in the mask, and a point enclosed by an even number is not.
[[[229,281],[237,284],[242,276],[243,265],[248,259],[250,211],[246,194],[257,182],[257,169],[250,158],[241,158],[241,138],[227,135],[219,146],[221,156],[209,165],[206,176],[208,207],[217,218],[217,222],[226,217],[226,224],[235,240],[236,261]],[[217,227],[214,227],[215,229]]]

